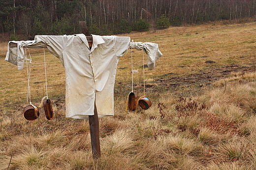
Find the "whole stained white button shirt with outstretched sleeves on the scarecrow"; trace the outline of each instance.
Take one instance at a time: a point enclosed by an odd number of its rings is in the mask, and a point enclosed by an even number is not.
[[[84,119],[94,115],[94,103],[98,117],[114,115],[114,84],[119,58],[128,48],[144,49],[148,55],[149,68],[155,67],[162,55],[154,43],[133,43],[129,37],[93,36],[92,49],[84,34],[40,35],[34,41],[12,41],[8,44],[6,61],[22,70],[24,50],[46,47],[59,58],[66,74],[66,118]]]

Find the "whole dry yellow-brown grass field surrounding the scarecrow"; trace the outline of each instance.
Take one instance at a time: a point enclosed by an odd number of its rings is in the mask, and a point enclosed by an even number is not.
[[[28,105],[27,70],[4,61],[0,43],[0,170],[256,170],[256,23],[211,23],[134,32],[158,43],[163,56],[146,69],[149,110],[126,112],[130,50],[116,75],[115,116],[100,119],[101,158],[92,159],[88,120],[65,117],[65,73],[46,51],[48,96],[35,121]],[[46,96],[42,49],[32,56],[32,103]],[[28,51],[27,51],[28,54]],[[133,50],[134,92],[143,95],[142,51]]]

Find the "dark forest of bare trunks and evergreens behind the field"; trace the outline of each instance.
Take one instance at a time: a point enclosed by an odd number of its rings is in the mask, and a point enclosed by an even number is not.
[[[0,30],[11,36],[145,31],[164,25],[256,18],[256,0],[1,0]],[[161,25],[162,24],[162,25]]]

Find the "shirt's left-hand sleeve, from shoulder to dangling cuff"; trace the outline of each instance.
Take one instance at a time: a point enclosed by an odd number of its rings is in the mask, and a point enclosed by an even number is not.
[[[48,35],[37,35],[34,41],[10,41],[8,43],[7,54],[5,61],[18,66],[18,70],[22,70],[24,66],[24,60],[26,56],[24,54],[25,48],[47,48],[53,55],[59,58],[63,62],[62,51],[65,48],[66,36],[48,36]]]

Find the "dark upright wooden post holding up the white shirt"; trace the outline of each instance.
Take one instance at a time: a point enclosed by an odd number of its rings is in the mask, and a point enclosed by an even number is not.
[[[85,34],[87,37],[88,44],[90,48],[93,44],[93,38],[89,33],[85,21],[79,22],[80,33]],[[100,145],[99,145],[99,123],[98,123],[98,113],[96,108],[96,103],[94,103],[94,115],[89,116],[89,124],[90,124],[90,135],[91,135],[91,144],[92,144],[92,152],[93,158],[100,158]]]

